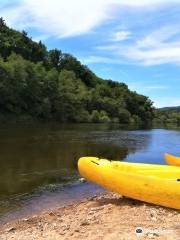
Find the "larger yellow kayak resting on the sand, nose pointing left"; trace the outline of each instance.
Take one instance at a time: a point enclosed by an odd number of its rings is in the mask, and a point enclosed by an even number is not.
[[[180,209],[180,168],[83,157],[79,173],[87,180],[133,199]]]

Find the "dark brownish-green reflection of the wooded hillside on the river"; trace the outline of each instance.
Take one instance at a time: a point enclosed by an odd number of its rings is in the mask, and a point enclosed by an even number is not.
[[[0,198],[77,178],[76,162],[81,156],[124,159],[147,143],[148,137],[137,139],[131,132],[98,130],[96,125],[89,128],[87,125],[41,125],[2,129]]]

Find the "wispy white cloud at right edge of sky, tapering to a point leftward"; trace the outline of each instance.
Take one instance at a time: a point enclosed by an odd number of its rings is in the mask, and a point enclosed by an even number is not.
[[[96,49],[109,51],[116,59],[124,58],[131,64],[180,64],[180,24],[162,27],[138,40],[131,40],[128,45],[116,42]]]

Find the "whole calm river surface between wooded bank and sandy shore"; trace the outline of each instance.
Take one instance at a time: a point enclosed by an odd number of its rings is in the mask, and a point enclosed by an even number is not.
[[[1,220],[102,191],[78,183],[76,164],[81,156],[164,164],[164,152],[180,155],[179,130],[93,124],[2,126]]]

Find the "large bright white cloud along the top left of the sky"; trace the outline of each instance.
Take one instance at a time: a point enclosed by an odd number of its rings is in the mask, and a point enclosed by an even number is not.
[[[91,31],[113,16],[117,7],[144,7],[179,2],[178,0],[18,0],[4,7],[0,3],[0,14],[8,24],[18,29],[28,27],[42,34],[70,37]],[[115,7],[116,6],[116,7]],[[124,33],[124,38],[125,36]],[[118,36],[117,36],[118,38]],[[119,36],[123,38],[123,35]]]

